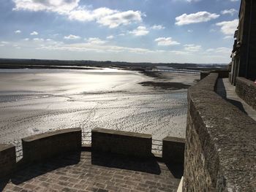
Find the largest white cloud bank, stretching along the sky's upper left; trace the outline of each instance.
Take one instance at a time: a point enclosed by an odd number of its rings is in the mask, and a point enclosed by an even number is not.
[[[66,15],[70,20],[96,21],[102,26],[116,28],[129,23],[142,21],[140,11],[128,10],[125,12],[107,7],[89,9],[79,6],[80,0],[14,0],[15,10],[48,11]]]

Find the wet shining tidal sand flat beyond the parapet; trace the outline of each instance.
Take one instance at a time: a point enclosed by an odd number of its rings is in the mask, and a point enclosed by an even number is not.
[[[0,69],[0,143],[18,146],[23,137],[75,127],[84,135],[99,127],[184,138],[187,88],[198,79],[109,68]]]

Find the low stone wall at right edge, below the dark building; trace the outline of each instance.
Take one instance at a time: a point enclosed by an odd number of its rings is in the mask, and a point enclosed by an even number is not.
[[[246,80],[244,77],[236,77],[236,93],[249,106],[256,110],[256,85],[251,80]]]

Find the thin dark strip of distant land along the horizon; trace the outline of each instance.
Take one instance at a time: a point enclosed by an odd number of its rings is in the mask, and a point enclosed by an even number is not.
[[[122,61],[88,61],[88,60],[45,60],[0,58],[0,69],[91,69],[94,67],[115,67],[129,70],[154,69],[157,66],[174,69],[227,69],[227,64],[178,64],[178,63],[129,63]]]

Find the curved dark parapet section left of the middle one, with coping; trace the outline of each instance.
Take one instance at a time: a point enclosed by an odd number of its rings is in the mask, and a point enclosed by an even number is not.
[[[23,138],[23,161],[43,161],[55,155],[80,150],[81,134],[80,128],[67,128]]]

